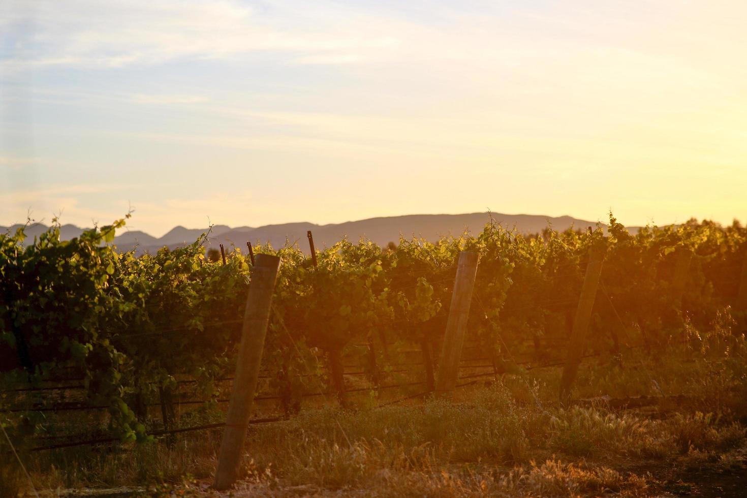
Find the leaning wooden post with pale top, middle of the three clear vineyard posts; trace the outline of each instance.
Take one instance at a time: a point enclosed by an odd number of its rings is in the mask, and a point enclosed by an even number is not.
[[[459,252],[454,289],[451,293],[449,320],[446,323],[441,363],[438,365],[436,396],[449,396],[456,387],[459,360],[462,358],[474,279],[477,276],[477,252]]]

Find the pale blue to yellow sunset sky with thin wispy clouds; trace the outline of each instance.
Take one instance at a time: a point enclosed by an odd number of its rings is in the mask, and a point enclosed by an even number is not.
[[[0,2],[0,225],[747,220],[744,0]]]

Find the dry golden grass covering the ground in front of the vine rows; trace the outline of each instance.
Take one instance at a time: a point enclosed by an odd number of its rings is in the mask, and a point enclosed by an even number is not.
[[[682,355],[642,356],[630,358],[633,366],[590,362],[580,371],[578,397],[651,395],[654,379],[663,393],[691,396],[676,411],[561,408],[555,402],[559,370],[506,376],[504,382],[460,391],[453,403],[430,399],[359,411],[308,408],[291,420],[252,427],[247,480],[235,493],[645,496],[651,476],[625,469],[651,461],[683,469],[718,463],[728,448],[744,441],[744,347],[728,337],[729,347],[722,347],[716,339],[694,349],[687,361]],[[210,482],[219,435],[183,435],[173,447],[94,446],[22,458],[37,488],[46,490],[152,483],[154,496],[169,494],[173,485],[202,494],[200,485],[184,479]],[[0,496],[25,487],[17,462],[0,461]]]

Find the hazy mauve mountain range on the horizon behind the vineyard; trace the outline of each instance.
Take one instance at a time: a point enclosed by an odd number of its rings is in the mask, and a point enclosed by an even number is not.
[[[596,222],[579,220],[577,218],[546,217],[536,214],[492,214],[493,220],[505,228],[515,229],[523,234],[537,233],[543,228],[552,226],[558,231],[570,227],[586,228],[594,226]],[[217,246],[223,243],[226,247],[246,247],[247,241],[251,243],[270,243],[273,247],[284,246],[285,243],[298,243],[308,251],[306,242],[306,231],[311,230],[314,234],[314,244],[318,249],[331,246],[343,237],[358,240],[367,237],[373,242],[384,246],[388,242],[400,240],[403,237],[424,237],[427,240],[436,240],[441,236],[459,235],[465,230],[477,233],[490,221],[488,213],[471,214],[410,214],[399,217],[379,217],[368,220],[349,221],[344,223],[332,223],[329,225],[316,225],[311,222],[282,223],[280,225],[264,225],[257,228],[243,226],[230,228],[226,225],[214,225],[209,234],[208,246]],[[10,227],[0,226],[0,231],[10,229],[15,231],[19,225]],[[34,223],[26,230],[28,237],[35,236],[46,230],[46,225]],[[606,228],[606,227],[605,227]],[[83,228],[75,225],[63,225],[61,237],[65,240],[78,237]],[[185,228],[176,226],[168,231],[163,237],[153,237],[143,231],[124,231],[114,238],[114,243],[122,250],[137,249],[138,253],[155,252],[158,248],[169,246],[175,248],[193,243],[200,234],[208,231],[208,228]]]

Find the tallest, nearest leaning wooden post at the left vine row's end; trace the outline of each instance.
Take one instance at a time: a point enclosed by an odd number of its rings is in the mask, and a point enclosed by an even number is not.
[[[217,490],[229,488],[238,479],[252,401],[257,388],[264,337],[267,334],[267,322],[270,320],[270,305],[280,268],[280,258],[277,256],[257,255],[256,262],[252,270],[252,281],[249,283],[226,429],[220,442],[218,466],[215,471],[214,488]]]

